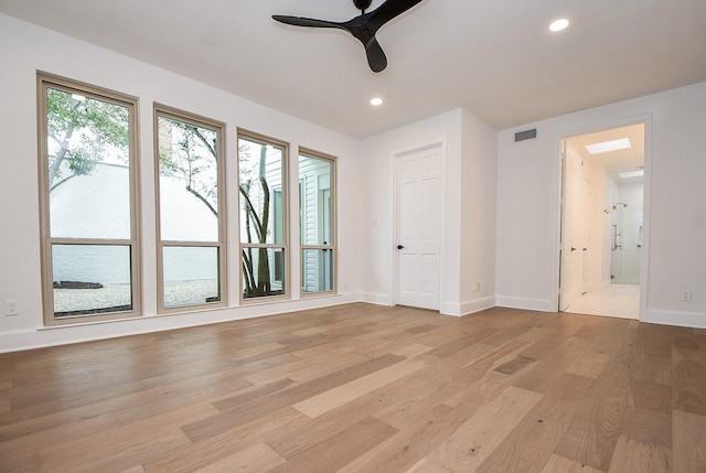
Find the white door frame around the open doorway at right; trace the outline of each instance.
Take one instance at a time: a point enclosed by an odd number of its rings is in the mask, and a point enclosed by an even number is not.
[[[640,115],[628,117],[621,120],[614,120],[603,123],[596,123],[591,126],[575,128],[571,130],[566,130],[557,133],[555,137],[555,157],[557,165],[555,169],[558,170],[557,183],[558,183],[558,193],[556,194],[557,198],[557,232],[556,232],[556,251],[555,251],[555,275],[554,275],[554,297],[553,300],[556,302],[556,308],[558,312],[561,312],[561,284],[563,284],[563,275],[561,275],[561,256],[563,256],[563,245],[564,245],[564,187],[566,184],[566,175],[564,168],[564,142],[571,137],[593,133],[597,131],[610,130],[613,128],[627,127],[630,125],[644,125],[644,189],[643,189],[643,207],[642,207],[642,255],[640,260],[640,315],[639,320],[641,322],[645,321],[645,312],[648,307],[648,286],[649,286],[649,267],[650,267],[650,207],[651,207],[651,195],[652,195],[652,115]]]

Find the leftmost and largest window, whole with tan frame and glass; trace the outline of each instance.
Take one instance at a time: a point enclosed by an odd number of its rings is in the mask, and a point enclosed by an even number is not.
[[[137,99],[38,76],[47,324],[140,313]]]

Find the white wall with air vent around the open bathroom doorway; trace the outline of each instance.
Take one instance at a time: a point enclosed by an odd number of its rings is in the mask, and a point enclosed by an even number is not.
[[[646,120],[641,320],[706,326],[705,109],[702,83],[501,131],[499,305],[556,310],[560,138]],[[531,127],[537,138],[515,143],[514,132]]]

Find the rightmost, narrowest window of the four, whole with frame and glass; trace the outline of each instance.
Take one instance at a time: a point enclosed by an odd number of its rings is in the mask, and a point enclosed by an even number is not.
[[[335,291],[335,160],[299,151],[301,292]]]

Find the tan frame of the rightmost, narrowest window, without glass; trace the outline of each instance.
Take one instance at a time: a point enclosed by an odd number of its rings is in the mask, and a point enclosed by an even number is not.
[[[325,245],[306,245],[303,243],[304,239],[304,228],[301,225],[301,216],[304,212],[303,208],[303,204],[304,204],[304,200],[302,198],[301,195],[301,190],[302,190],[302,175],[299,172],[299,161],[301,160],[301,158],[310,158],[310,159],[317,159],[317,160],[321,160],[321,161],[328,161],[330,164],[330,225],[331,228],[330,230],[330,239],[331,241],[329,241]],[[338,284],[338,268],[339,268],[339,249],[338,249],[338,174],[336,174],[336,158],[334,155],[331,154],[327,154],[320,151],[315,151],[312,150],[310,148],[304,148],[304,147],[299,147],[298,149],[298,153],[297,153],[297,173],[298,173],[298,179],[297,182],[298,184],[298,189],[299,189],[299,266],[300,266],[300,291],[301,291],[301,298],[306,299],[306,298],[315,298],[315,297],[322,297],[322,295],[331,295],[331,294],[336,294],[339,291],[339,284]],[[320,218],[320,215],[317,214],[317,218]],[[332,272],[332,277],[331,277],[331,289],[330,290],[325,290],[325,291],[304,291],[303,290],[303,286],[304,286],[304,251],[306,250],[330,250],[331,251],[331,272]]]

